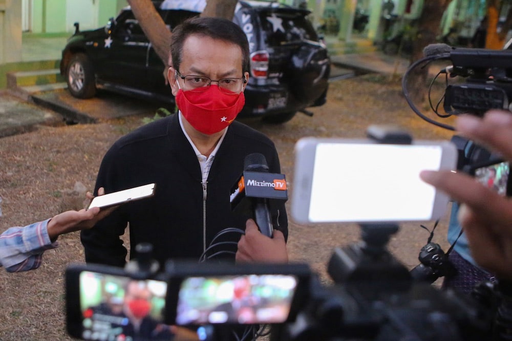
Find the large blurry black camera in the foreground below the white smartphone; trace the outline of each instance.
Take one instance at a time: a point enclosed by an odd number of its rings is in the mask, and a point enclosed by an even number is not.
[[[335,284],[316,285],[294,323],[274,340],[487,340],[493,310],[471,297],[416,282],[386,248],[393,224],[361,225],[361,242],[337,248]],[[314,284],[314,282],[313,282]],[[274,331],[275,331],[274,329]]]

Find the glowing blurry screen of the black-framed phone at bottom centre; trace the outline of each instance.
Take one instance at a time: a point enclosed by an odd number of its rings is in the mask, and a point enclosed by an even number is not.
[[[283,323],[296,286],[293,275],[189,277],[181,283],[176,323]]]

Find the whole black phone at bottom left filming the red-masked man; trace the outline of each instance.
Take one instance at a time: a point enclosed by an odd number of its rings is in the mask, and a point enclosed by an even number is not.
[[[141,280],[122,268],[70,265],[66,269],[68,333],[83,340],[170,339],[170,328],[163,323],[166,295],[163,274]],[[145,329],[137,332],[140,321]]]

